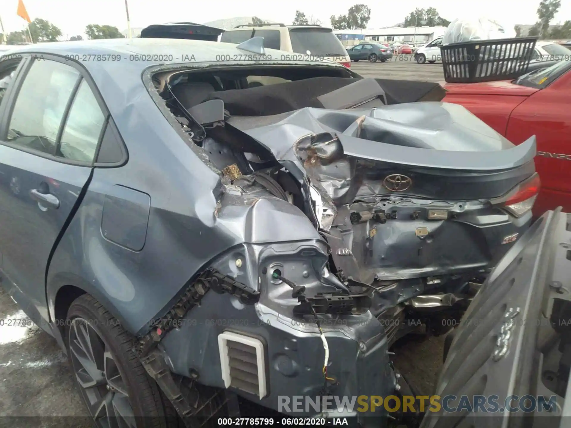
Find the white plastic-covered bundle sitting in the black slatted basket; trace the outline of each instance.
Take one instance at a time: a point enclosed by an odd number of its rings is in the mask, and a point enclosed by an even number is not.
[[[457,18],[444,33],[443,45],[473,40],[506,39],[516,37],[515,30],[507,30],[488,18]]]

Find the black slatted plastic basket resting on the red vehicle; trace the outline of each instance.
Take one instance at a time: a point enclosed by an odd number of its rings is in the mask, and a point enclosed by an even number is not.
[[[449,83],[509,80],[525,74],[537,37],[476,40],[440,47],[444,80]]]

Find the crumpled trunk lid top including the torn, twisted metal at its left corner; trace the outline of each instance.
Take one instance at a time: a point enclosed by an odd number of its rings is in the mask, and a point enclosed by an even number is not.
[[[308,107],[262,122],[256,128],[251,118],[234,118],[232,126],[247,123],[242,130],[278,161],[295,164],[330,209],[363,191],[379,193],[381,183],[356,174],[374,171],[377,162],[482,171],[516,167],[536,153],[534,138],[514,146],[464,107],[441,102],[365,110]]]

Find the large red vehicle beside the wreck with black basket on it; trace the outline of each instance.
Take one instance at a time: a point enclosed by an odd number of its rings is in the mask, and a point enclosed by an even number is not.
[[[533,212],[559,205],[571,212],[571,61],[512,81],[442,86],[444,102],[461,104],[514,144],[535,135],[541,192]]]

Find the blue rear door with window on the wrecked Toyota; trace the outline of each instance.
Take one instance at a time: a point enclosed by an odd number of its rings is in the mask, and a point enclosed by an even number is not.
[[[29,60],[0,111],[3,285],[41,326],[50,253],[90,180],[106,119],[83,72],[57,57]]]

